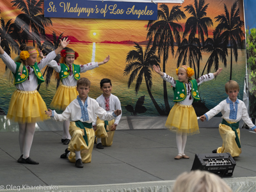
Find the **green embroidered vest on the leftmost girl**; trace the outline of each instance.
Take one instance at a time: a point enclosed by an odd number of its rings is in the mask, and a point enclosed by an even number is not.
[[[20,75],[20,72],[18,72],[18,70],[20,68],[21,63],[19,63],[19,62],[15,62],[15,63],[17,65],[17,68],[16,68],[15,74],[13,74],[14,84],[23,83],[24,81],[26,81],[26,79],[28,79],[28,76],[29,76],[28,69],[24,65],[23,68],[22,68],[22,73]],[[37,83],[38,84],[43,83],[44,82],[44,77],[42,76],[42,73],[41,73],[40,69],[38,68],[37,63],[35,63],[35,65],[31,65],[30,67],[32,67],[34,72],[35,72],[35,75],[37,77]]]

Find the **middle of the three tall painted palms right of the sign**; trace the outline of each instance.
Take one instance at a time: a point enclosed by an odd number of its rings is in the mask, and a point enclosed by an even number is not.
[[[185,11],[190,13],[192,16],[186,20],[185,29],[183,33],[183,38],[185,38],[189,33],[189,40],[191,38],[195,38],[196,33],[198,33],[198,40],[199,42],[204,45],[204,35],[208,37],[208,27],[213,26],[212,19],[210,17],[205,17],[207,15],[206,10],[208,8],[208,4],[205,4],[205,0],[195,0],[195,8],[192,4],[185,6]],[[198,49],[201,49],[201,44],[198,44]],[[195,79],[199,78],[200,72],[200,58],[201,52],[198,52],[198,60],[196,63],[195,70]],[[196,76],[197,74],[197,76]]]

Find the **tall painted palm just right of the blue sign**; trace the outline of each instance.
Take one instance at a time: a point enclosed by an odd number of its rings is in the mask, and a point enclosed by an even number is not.
[[[180,31],[182,26],[177,22],[180,19],[186,19],[184,12],[180,10],[180,6],[173,6],[170,10],[166,4],[159,6],[160,10],[157,10],[158,20],[149,20],[147,29],[147,38],[154,36],[154,44],[158,46],[159,58],[163,55],[163,72],[166,70],[166,62],[168,60],[169,52],[174,54],[175,41],[176,44],[180,44]],[[166,112],[169,113],[170,105],[168,102],[166,81],[163,81],[163,95],[164,95],[164,106]]]

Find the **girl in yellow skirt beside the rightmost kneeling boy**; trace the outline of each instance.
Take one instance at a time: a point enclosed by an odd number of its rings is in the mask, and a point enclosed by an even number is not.
[[[200,100],[198,85],[214,79],[214,76],[220,74],[222,68],[219,68],[213,74],[210,73],[192,80],[191,77],[195,73],[194,70],[187,65],[182,65],[176,69],[178,81],[175,81],[173,77],[161,72],[159,66],[154,65],[153,68],[164,81],[168,81],[173,86],[173,101],[175,105],[168,115],[165,126],[171,131],[176,132],[176,143],[179,154],[175,159],[189,159],[189,157],[184,154],[187,135],[199,133],[195,109],[192,106],[194,100]]]

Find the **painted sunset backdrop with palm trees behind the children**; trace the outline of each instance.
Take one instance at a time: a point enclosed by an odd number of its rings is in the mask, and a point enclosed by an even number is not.
[[[152,70],[159,65],[163,72],[176,76],[182,64],[195,69],[195,76],[223,68],[216,79],[200,85],[200,102],[194,107],[204,114],[227,98],[224,84],[239,83],[243,98],[246,50],[244,40],[243,1],[186,0],[183,4],[157,4],[158,20],[108,20],[45,18],[42,0],[0,0],[1,46],[15,58],[19,45],[41,47],[45,54],[68,36],[71,47],[79,52],[75,64],[110,61],[81,77],[92,82],[90,97],[101,94],[100,79],[109,78],[112,93],[122,104],[124,116],[168,115],[173,106],[169,83]],[[99,1],[100,3],[101,1]],[[0,61],[0,108],[8,111],[12,82],[4,78],[5,65]],[[44,73],[45,72],[45,73]],[[49,106],[58,81],[51,68],[43,70],[47,84],[40,94]]]

